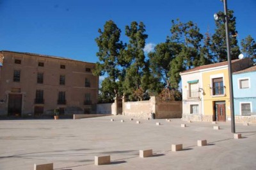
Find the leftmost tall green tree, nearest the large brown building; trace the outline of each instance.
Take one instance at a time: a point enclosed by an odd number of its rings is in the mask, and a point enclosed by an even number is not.
[[[121,30],[116,26],[113,20],[108,20],[104,24],[104,30],[99,29],[99,37],[95,39],[99,51],[97,57],[100,62],[96,63],[94,75],[106,75],[106,79],[102,82],[101,95],[104,98],[114,98],[120,92],[120,53],[125,45],[120,41]]]

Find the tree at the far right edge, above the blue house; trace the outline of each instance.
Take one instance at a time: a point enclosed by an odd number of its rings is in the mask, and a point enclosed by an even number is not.
[[[245,57],[252,58],[256,62],[256,42],[252,36],[248,35],[241,40],[241,46]]]

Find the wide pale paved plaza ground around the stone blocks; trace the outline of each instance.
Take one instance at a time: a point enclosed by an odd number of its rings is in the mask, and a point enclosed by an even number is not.
[[[211,122],[175,119],[138,124],[138,119],[129,119],[0,120],[0,169],[27,170],[51,162],[62,170],[256,169],[256,125],[237,123],[236,132],[243,138],[234,139],[230,122],[219,122],[220,130],[213,130]],[[182,123],[188,127],[180,127]],[[196,146],[204,139],[207,146]],[[172,144],[180,143],[182,151],[171,151]],[[153,156],[140,158],[139,150],[148,149]],[[97,155],[111,155],[111,164],[95,166]]]

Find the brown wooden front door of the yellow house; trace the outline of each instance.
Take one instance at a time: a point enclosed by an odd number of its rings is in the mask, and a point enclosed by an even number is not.
[[[226,121],[225,101],[214,102],[214,121]]]

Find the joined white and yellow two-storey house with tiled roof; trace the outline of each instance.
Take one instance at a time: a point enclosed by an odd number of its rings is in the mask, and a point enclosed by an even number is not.
[[[249,58],[235,59],[232,61],[232,72],[243,70],[252,65],[253,62]],[[230,89],[227,61],[198,66],[181,72],[180,75],[182,78],[183,120],[230,120]],[[196,79],[198,86],[194,86],[194,79]],[[196,87],[196,89],[191,89],[193,87]],[[196,100],[191,98],[191,95],[186,94],[190,94],[192,91],[197,92]]]

